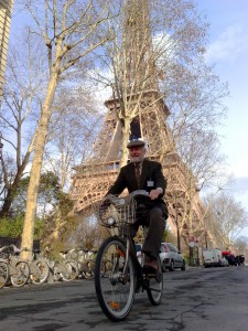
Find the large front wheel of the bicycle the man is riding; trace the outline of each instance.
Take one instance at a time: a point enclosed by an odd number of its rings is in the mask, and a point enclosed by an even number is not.
[[[134,267],[129,257],[127,270],[123,271],[125,260],[126,246],[116,237],[107,238],[97,254],[96,295],[104,313],[112,321],[126,319],[134,300]]]

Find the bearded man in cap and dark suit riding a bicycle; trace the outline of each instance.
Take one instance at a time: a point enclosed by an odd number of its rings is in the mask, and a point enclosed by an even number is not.
[[[136,190],[149,192],[151,201],[138,204],[142,218],[131,225],[131,235],[136,236],[139,225],[148,226],[148,235],[143,243],[144,271],[158,271],[160,245],[162,242],[168,209],[162,200],[166,189],[166,181],[162,173],[161,163],[144,158],[145,143],[132,140],[128,143],[130,162],[120,169],[119,175],[107,194],[119,195],[126,188],[129,193]],[[139,169],[140,168],[140,169]],[[139,172],[140,171],[140,172]]]

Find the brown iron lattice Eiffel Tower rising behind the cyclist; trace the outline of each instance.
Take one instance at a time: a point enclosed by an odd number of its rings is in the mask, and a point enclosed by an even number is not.
[[[129,107],[138,109],[130,122],[129,139],[142,138],[148,146],[147,157],[162,163],[168,180],[165,201],[172,232],[179,234],[180,231],[186,242],[191,236],[203,237],[205,207],[196,186],[188,193],[185,177],[188,169],[175,150],[173,136],[166,124],[170,110],[159,90],[157,68],[152,60],[149,1],[126,1],[125,31],[128,35],[125,46],[129,50],[129,61],[126,63],[128,76],[121,77],[120,74],[119,79],[127,79],[127,86],[132,86],[132,89],[128,89],[127,102]],[[139,53],[141,47],[144,49],[143,54]],[[75,167],[72,192],[75,213],[86,214],[94,203],[100,201],[119,172],[123,134],[118,114],[121,111],[122,96],[116,95],[118,93],[114,89],[112,97],[105,102],[108,110],[90,157],[84,164]],[[214,242],[213,237],[211,239]]]

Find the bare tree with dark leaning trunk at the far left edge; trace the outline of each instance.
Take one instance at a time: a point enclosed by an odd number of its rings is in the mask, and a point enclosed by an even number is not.
[[[21,46],[25,42],[26,49]],[[36,119],[41,111],[44,87],[42,52],[29,33],[15,39],[10,46],[0,126],[4,152],[1,164],[4,179],[4,197],[0,217],[9,215],[19,183],[30,162],[36,134]],[[39,58],[37,58],[39,57]],[[13,159],[10,166],[10,158]]]

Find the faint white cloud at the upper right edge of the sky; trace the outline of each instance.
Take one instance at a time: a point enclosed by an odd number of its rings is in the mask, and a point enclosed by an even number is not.
[[[234,61],[247,47],[247,34],[239,24],[230,25],[213,42],[206,53],[207,62]]]

